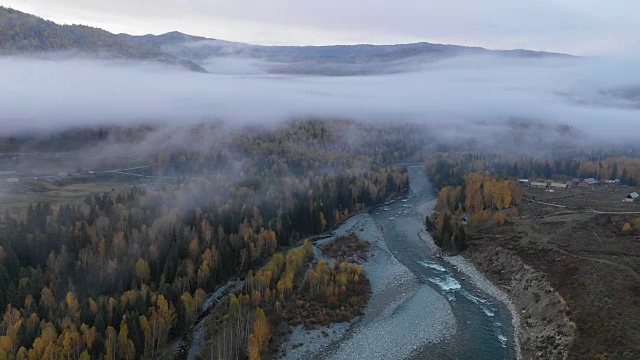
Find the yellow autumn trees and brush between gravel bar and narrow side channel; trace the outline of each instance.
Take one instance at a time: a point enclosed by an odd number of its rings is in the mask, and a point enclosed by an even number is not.
[[[277,253],[255,274],[249,271],[208,320],[211,359],[273,357],[291,326],[327,325],[361,315],[370,296],[362,267],[316,261],[312,245]]]

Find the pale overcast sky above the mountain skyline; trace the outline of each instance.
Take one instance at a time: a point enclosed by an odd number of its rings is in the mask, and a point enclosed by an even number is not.
[[[640,47],[637,0],[0,0],[111,32],[178,30],[272,45],[428,41],[619,55]]]

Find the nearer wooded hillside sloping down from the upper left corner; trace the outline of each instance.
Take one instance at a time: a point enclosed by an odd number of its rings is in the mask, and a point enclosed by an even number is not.
[[[149,60],[205,71],[154,46],[132,43],[108,31],[84,25],[58,25],[34,15],[0,7],[0,52],[37,54],[79,52],[132,60]]]

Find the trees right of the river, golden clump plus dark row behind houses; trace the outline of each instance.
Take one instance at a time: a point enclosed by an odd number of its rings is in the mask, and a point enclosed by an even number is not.
[[[624,152],[623,150],[620,150]],[[630,150],[631,151],[631,150]],[[514,154],[440,153],[428,156],[425,166],[434,185],[440,190],[437,213],[427,218],[436,242],[447,249],[460,251],[466,244],[465,225],[504,224],[522,199],[515,179],[530,180],[594,177],[620,179],[622,184],[640,182],[640,158],[595,156],[575,150],[575,157],[557,155],[534,157]],[[513,210],[517,213],[517,210]],[[628,226],[627,226],[628,225]],[[625,224],[624,231],[634,231],[635,223]]]

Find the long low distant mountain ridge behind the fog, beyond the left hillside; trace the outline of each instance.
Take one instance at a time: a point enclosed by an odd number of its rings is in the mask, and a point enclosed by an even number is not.
[[[515,58],[570,57],[529,50],[488,50],[480,47],[415,43],[400,45],[260,46],[208,39],[179,32],[131,36],[127,41],[153,46],[218,72],[223,59],[241,59],[267,73],[367,75],[410,71],[426,62],[463,55],[501,55]]]

